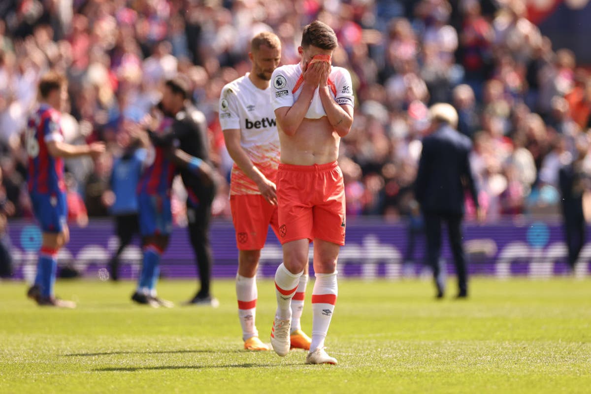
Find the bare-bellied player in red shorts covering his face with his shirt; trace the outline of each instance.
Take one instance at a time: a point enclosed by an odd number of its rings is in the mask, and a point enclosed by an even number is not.
[[[271,344],[280,356],[290,349],[293,294],[314,242],[312,341],[306,363],[336,364],[324,338],[337,297],[336,262],[345,244],[345,192],[337,165],[339,142],[353,122],[349,72],[332,67],[335,32],[319,21],[304,27],[301,62],[279,67],[271,78],[281,164],[277,202],[283,263],[275,272],[277,312]]]

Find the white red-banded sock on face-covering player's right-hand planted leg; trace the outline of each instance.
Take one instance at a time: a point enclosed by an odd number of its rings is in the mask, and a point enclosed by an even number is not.
[[[336,271],[316,273],[312,291],[312,343],[310,351],[324,347],[324,338],[329,330],[330,319],[335,311],[336,297],[339,292]]]

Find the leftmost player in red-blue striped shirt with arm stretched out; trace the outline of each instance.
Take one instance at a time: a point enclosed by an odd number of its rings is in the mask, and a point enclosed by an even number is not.
[[[72,301],[56,298],[57,253],[69,241],[66,224],[66,184],[64,158],[98,156],[105,151],[102,142],[70,145],[64,142],[60,128],[60,111],[67,103],[67,80],[61,74],[48,72],[39,82],[40,105],[28,121],[25,147],[29,157],[28,190],[35,217],[43,231],[43,243],[37,263],[35,283],[27,295],[38,305],[74,308]]]

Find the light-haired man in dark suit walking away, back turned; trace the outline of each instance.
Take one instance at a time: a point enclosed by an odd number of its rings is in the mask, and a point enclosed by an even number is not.
[[[431,133],[423,139],[423,152],[415,181],[415,197],[423,212],[427,236],[427,260],[433,268],[437,298],[442,298],[445,281],[440,264],[441,222],[446,222],[456,265],[459,286],[457,297],[466,298],[467,268],[461,229],[466,189],[474,200],[479,220],[482,219],[469,162],[472,142],[456,131],[457,112],[453,106],[438,103],[429,109],[429,114]]]

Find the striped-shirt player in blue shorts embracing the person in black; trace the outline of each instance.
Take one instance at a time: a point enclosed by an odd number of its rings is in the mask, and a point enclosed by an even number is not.
[[[166,92],[166,90],[165,90]],[[166,93],[164,93],[166,95]],[[213,183],[209,164],[178,149],[173,135],[174,118],[159,110],[147,122],[150,130],[142,138],[148,146],[144,173],[138,184],[139,228],[142,235],[142,270],[138,288],[131,299],[152,307],[172,307],[173,303],[157,297],[156,282],[160,275],[160,259],[168,246],[173,226],[171,188],[177,168],[192,172],[204,184]],[[170,143],[163,143],[169,141]]]

